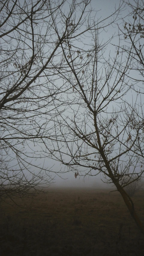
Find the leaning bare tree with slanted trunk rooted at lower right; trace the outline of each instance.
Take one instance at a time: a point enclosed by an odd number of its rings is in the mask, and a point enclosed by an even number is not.
[[[132,90],[129,76],[134,69],[133,45],[126,51],[120,34],[105,38],[104,30],[95,26],[82,37],[80,47],[69,39],[69,53],[62,48],[69,71],[63,74],[59,69],[59,74],[72,90],[67,95],[69,114],[55,116],[57,146],[53,144],[55,149],[49,153],[75,177],[103,174],[122,195],[144,234],[134,202],[125,190],[131,183],[125,177],[136,175],[134,182],[144,173],[143,102],[137,90]],[[113,47],[116,40],[119,47]]]

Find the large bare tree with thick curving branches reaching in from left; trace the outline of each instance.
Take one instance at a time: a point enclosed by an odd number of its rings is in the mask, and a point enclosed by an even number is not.
[[[52,182],[43,140],[55,140],[53,116],[64,111],[64,92],[71,87],[57,75],[68,67],[63,49],[93,26],[88,5],[0,1],[1,198],[38,192]]]

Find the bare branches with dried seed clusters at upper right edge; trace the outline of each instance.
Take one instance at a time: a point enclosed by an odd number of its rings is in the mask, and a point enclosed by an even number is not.
[[[124,44],[119,51],[131,55],[131,66],[128,77],[131,78],[131,88],[143,94],[144,83],[144,1],[132,0],[127,2],[129,14],[123,19],[123,27],[119,26],[119,33],[123,35]],[[137,86],[135,86],[137,85]]]

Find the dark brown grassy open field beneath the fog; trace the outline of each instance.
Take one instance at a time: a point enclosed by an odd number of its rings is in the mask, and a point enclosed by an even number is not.
[[[49,189],[16,203],[22,208],[1,202],[1,256],[144,255],[144,237],[118,192]],[[144,222],[143,191],[134,203]]]

